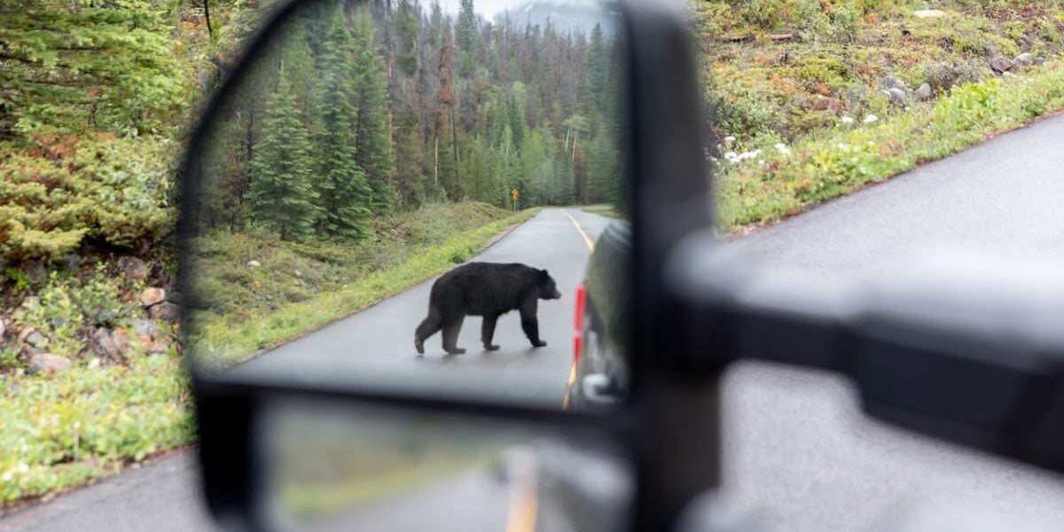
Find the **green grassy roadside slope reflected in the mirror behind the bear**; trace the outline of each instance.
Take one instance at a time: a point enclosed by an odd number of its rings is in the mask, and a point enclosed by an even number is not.
[[[536,212],[511,214],[483,203],[432,206],[380,228],[377,240],[358,246],[210,238],[201,268],[202,289],[212,299],[193,314],[190,344],[206,364],[245,359],[465,262]],[[262,266],[248,267],[250,260]]]

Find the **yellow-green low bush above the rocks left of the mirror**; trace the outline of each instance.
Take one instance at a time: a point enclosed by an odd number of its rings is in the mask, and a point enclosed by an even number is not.
[[[171,225],[170,142],[43,139],[0,160],[0,260],[52,261],[86,240],[154,243]]]

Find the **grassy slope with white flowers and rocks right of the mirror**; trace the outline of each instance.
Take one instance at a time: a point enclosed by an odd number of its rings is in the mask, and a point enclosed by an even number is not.
[[[778,220],[1064,106],[1060,2],[945,1],[938,18],[916,17],[926,6],[908,0],[759,5],[757,16],[718,1],[697,11],[729,231]],[[772,41],[774,33],[796,38]],[[747,34],[754,40],[729,41]],[[1020,52],[1048,62],[1003,77],[990,69],[992,54]],[[903,106],[891,104],[881,86],[887,74],[910,89],[928,83],[933,98],[916,101],[910,92]],[[877,120],[866,123],[869,115]],[[726,152],[749,155],[731,162]]]

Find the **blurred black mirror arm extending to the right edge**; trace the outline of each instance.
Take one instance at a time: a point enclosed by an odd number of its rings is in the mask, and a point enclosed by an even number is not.
[[[760,268],[709,232],[669,268],[671,349],[693,371],[737,360],[835,371],[874,417],[1064,471],[1064,298],[950,290],[948,272],[862,283]]]

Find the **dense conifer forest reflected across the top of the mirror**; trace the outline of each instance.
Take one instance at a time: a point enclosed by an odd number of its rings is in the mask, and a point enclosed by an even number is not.
[[[359,238],[426,202],[615,201],[615,38],[488,22],[472,0],[456,19],[413,0],[312,4],[226,103],[205,227]]]

